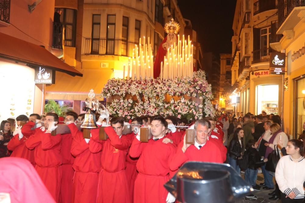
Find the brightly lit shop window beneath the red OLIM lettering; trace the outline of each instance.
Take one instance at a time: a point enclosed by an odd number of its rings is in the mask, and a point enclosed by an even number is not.
[[[257,115],[265,111],[267,115],[278,114],[278,85],[257,86]]]

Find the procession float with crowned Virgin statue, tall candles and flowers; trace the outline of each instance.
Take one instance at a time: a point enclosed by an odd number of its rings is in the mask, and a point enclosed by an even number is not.
[[[109,79],[102,90],[110,115],[129,120],[135,116],[173,115],[188,120],[214,116],[211,85],[205,72],[193,71],[193,45],[190,36],[180,38],[180,25],[171,19],[153,61],[150,39],[140,38],[133,50],[123,79]],[[141,44],[143,42],[143,44]],[[127,75],[125,72],[127,69]]]

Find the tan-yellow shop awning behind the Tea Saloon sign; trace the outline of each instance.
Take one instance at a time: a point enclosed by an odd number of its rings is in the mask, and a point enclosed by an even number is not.
[[[81,78],[57,74],[55,84],[46,87],[45,99],[85,100],[90,89],[98,98],[107,81],[113,78],[111,69],[83,69],[82,73],[84,76]]]

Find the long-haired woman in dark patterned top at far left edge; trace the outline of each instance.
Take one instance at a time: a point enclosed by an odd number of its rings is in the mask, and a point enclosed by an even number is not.
[[[3,132],[3,135],[0,135],[0,158],[9,156],[7,150],[7,144],[13,137],[13,133],[11,132],[11,124],[8,120],[4,120],[0,124],[0,131]]]

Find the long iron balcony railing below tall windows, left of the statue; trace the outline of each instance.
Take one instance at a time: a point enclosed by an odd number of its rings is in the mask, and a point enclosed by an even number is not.
[[[81,54],[132,57],[136,43],[125,40],[84,39]]]

